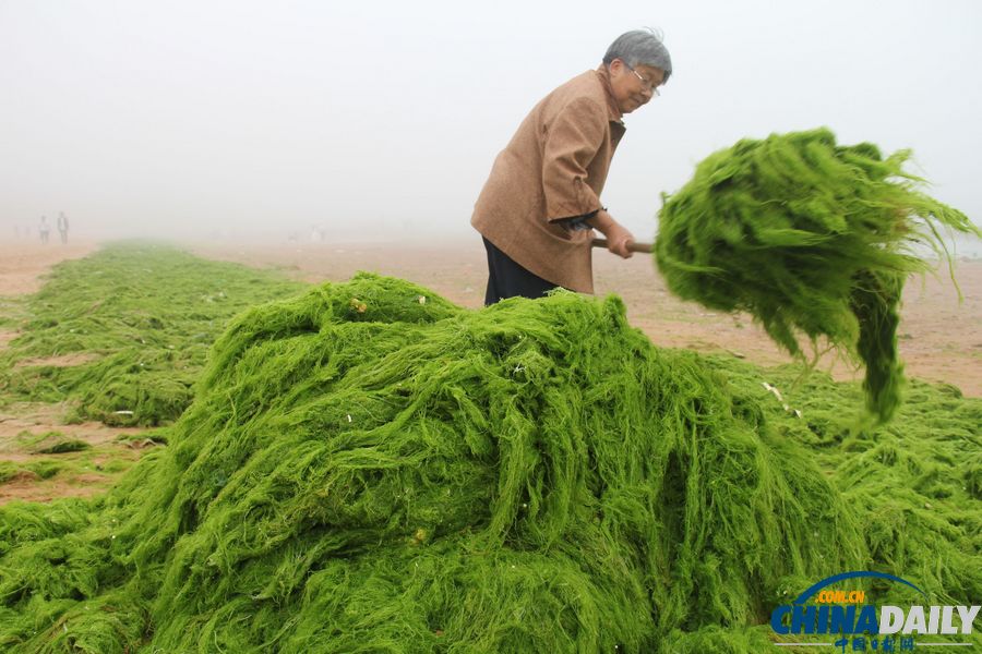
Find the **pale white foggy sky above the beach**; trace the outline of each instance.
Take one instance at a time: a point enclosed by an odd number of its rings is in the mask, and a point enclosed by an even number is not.
[[[602,199],[638,240],[660,193],[745,136],[912,148],[982,222],[982,3],[0,0],[0,240],[457,239],[531,107],[659,28],[673,74],[625,117]]]

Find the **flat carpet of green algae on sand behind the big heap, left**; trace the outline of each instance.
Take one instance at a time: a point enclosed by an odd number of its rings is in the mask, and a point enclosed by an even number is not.
[[[301,288],[151,243],[62,263],[4,316],[22,334],[0,352],[0,404],[68,400],[73,421],[171,423],[191,403],[208,348],[232,316]],[[67,356],[79,360],[64,365]]]

